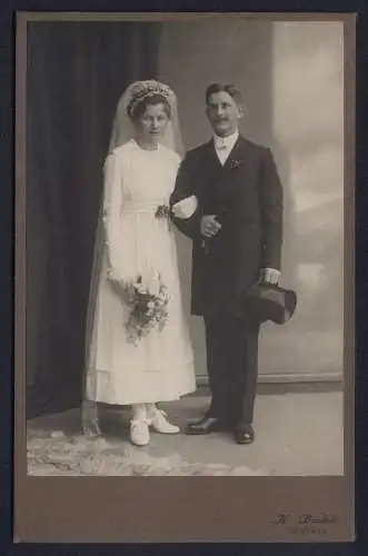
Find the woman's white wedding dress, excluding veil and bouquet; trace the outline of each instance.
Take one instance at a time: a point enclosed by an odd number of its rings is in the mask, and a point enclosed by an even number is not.
[[[180,398],[196,389],[193,354],[182,310],[177,245],[168,218],[155,217],[168,205],[179,156],[159,146],[143,150],[135,140],[109,155],[105,178],[103,222],[107,245],[98,284],[87,396],[105,404],[132,405]],[[133,345],[125,324],[129,307],[107,276],[160,272],[168,288],[168,321]]]

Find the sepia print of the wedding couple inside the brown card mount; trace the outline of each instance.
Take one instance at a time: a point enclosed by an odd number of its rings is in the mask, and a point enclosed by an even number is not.
[[[23,14],[27,475],[346,476],[344,21],[64,16]]]

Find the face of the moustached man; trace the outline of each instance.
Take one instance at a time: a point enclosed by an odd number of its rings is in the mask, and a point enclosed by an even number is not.
[[[226,91],[213,92],[207,102],[207,117],[213,131],[220,137],[236,132],[242,117],[242,107]]]

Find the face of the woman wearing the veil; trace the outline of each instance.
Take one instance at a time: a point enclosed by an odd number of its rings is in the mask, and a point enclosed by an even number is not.
[[[163,137],[168,122],[169,117],[162,102],[147,105],[145,111],[135,121],[138,141],[157,145]]]

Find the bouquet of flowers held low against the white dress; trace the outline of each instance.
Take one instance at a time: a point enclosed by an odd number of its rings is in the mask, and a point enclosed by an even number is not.
[[[143,281],[141,275],[136,280],[125,282],[125,297],[131,310],[126,330],[129,341],[138,341],[153,328],[162,330],[168,320],[169,296],[160,275]]]

